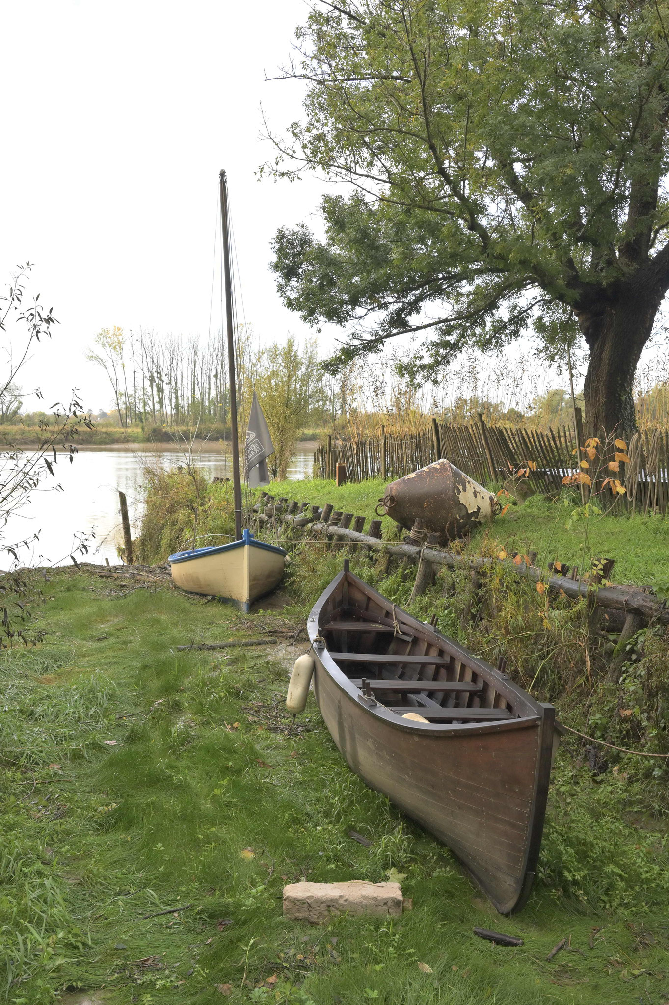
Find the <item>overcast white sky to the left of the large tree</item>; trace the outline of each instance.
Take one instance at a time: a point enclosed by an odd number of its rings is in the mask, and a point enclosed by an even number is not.
[[[247,321],[305,332],[268,271],[280,224],[308,219],[315,181],[258,181],[300,84],[264,82],[289,55],[302,0],[0,2],[0,284],[35,263],[60,321],[21,381],[106,407],[85,362],[100,328],[206,334],[218,172],[228,172]],[[50,403],[50,401],[49,401]],[[26,403],[27,404],[27,403]]]

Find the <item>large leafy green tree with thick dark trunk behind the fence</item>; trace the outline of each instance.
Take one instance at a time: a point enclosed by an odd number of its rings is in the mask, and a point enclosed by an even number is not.
[[[429,374],[580,332],[589,425],[633,429],[669,287],[667,0],[317,0],[297,39],[305,115],[274,170],[347,185],[324,240],[278,231],[273,268],[289,308],[348,328],[334,363],[424,332]]]

